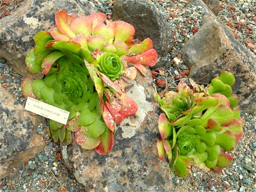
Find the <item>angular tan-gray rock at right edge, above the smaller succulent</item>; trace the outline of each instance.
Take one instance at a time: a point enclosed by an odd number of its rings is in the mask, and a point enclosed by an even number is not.
[[[239,96],[239,106],[246,112],[255,112],[255,56],[225,24],[209,10],[205,12],[203,25],[184,45],[182,57],[190,68],[189,76],[197,82],[209,83],[222,70],[232,72],[236,77],[233,91]]]

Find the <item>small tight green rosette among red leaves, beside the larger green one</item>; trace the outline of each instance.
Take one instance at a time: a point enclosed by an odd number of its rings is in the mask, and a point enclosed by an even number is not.
[[[96,67],[112,81],[115,81],[123,74],[122,61],[119,56],[111,52],[105,52],[100,55]]]

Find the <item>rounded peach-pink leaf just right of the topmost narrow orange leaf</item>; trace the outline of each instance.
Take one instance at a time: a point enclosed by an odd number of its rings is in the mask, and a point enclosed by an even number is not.
[[[76,33],[82,33],[84,36],[90,36],[92,33],[92,20],[88,17],[80,17],[72,20],[70,28]]]

